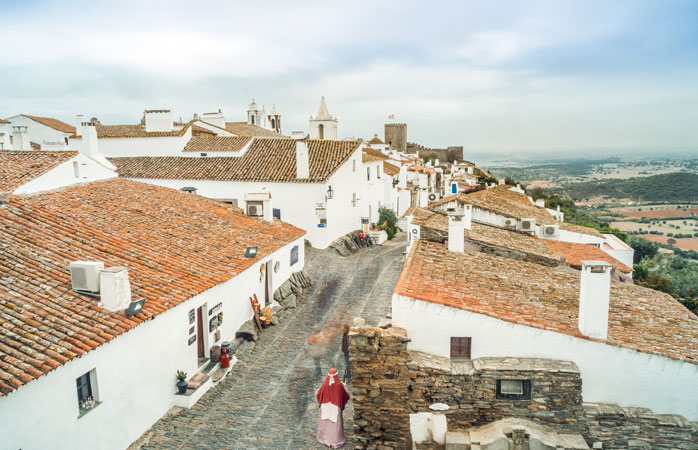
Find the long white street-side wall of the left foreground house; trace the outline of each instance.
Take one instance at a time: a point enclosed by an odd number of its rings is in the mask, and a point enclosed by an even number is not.
[[[299,260],[289,267],[290,251]],[[189,345],[189,311],[223,303],[221,341],[231,340],[239,325],[252,317],[248,297],[264,298],[259,266],[281,262],[274,289],[303,268],[303,239],[286,245],[226,283],[166,311],[49,374],[0,397],[0,448],[110,450],[124,449],[164,415],[173,404],[175,372],[191,377],[197,369],[196,342]],[[214,345],[205,313],[206,349]],[[220,341],[218,342],[220,344]],[[78,419],[75,380],[96,369],[101,405]],[[94,386],[93,386],[94,388]]]

